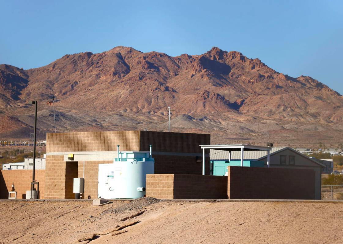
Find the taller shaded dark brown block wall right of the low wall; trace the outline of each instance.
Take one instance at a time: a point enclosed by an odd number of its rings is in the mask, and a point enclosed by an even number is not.
[[[311,169],[228,166],[229,199],[315,199]]]

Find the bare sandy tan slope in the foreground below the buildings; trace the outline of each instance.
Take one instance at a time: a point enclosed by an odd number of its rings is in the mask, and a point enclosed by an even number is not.
[[[343,243],[343,203],[138,201],[0,202],[0,243]]]

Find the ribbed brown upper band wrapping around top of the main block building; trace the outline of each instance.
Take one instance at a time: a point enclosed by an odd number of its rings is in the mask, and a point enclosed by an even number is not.
[[[149,151],[201,153],[199,145],[210,144],[210,134],[160,131],[90,131],[47,133],[47,152]],[[209,153],[209,152],[206,152]]]

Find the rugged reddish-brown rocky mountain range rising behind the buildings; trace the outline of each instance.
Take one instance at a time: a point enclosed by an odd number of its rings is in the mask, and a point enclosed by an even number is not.
[[[54,131],[47,104],[52,96],[60,132],[167,130],[171,106],[172,131],[210,132],[212,143],[336,145],[343,134],[338,92],[216,47],[176,57],[116,47],[65,55],[28,70],[3,64],[0,91],[0,137],[13,139],[32,132],[32,100],[39,101],[40,134]]]

